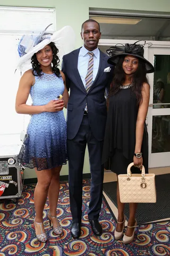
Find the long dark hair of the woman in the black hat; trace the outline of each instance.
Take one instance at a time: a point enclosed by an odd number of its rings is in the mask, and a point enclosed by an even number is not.
[[[120,90],[120,85],[122,85],[125,82],[125,73],[123,70],[123,61],[125,57],[120,57],[117,65],[114,69],[114,75],[113,75],[113,81],[111,84],[111,90],[109,91],[109,96],[116,94]],[[145,62],[143,62],[141,59],[139,59],[139,65],[137,71],[132,75],[132,90],[135,93],[137,97],[137,103],[139,104],[142,99],[142,86],[143,83],[148,83],[148,79],[146,77],[146,67]]]

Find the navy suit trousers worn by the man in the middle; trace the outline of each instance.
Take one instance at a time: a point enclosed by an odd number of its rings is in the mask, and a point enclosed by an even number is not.
[[[99,218],[102,197],[104,166],[101,166],[103,141],[98,141],[91,132],[88,115],[84,115],[77,135],[72,140],[67,140],[69,153],[69,191],[70,207],[73,221],[81,222],[82,215],[82,173],[84,154],[88,146],[91,187],[88,218]]]

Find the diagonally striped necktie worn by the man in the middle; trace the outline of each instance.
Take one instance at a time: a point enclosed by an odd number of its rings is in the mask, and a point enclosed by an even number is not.
[[[88,69],[87,69],[87,75],[85,78],[86,82],[86,91],[88,92],[90,89],[90,86],[92,85],[93,82],[93,71],[94,71],[94,53],[93,52],[88,52],[90,58],[89,58],[89,63],[88,63]],[[87,103],[85,110],[87,111]]]

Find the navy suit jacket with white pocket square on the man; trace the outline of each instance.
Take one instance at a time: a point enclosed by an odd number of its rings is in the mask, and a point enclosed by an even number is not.
[[[64,55],[62,62],[67,90],[70,90],[67,105],[67,139],[71,140],[77,135],[87,102],[91,131],[94,137],[100,141],[104,139],[107,117],[105,89],[106,87],[109,89],[111,85],[113,66],[111,66],[110,72],[104,72],[104,69],[110,66],[107,63],[109,57],[100,51],[98,73],[87,93],[78,71],[79,51],[80,48]]]

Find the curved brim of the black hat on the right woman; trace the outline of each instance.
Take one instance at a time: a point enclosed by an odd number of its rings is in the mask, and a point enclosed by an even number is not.
[[[134,57],[137,57],[138,59],[142,60],[143,62],[145,62],[145,66],[146,66],[146,73],[153,73],[155,71],[154,66],[145,58],[143,58],[142,56],[138,55],[138,54],[131,54],[131,53],[120,53],[120,54],[115,54],[114,56],[112,56],[111,58],[109,58],[107,60],[107,62],[111,65],[116,65],[118,60],[120,59],[120,57],[125,57],[126,55],[132,55]]]

